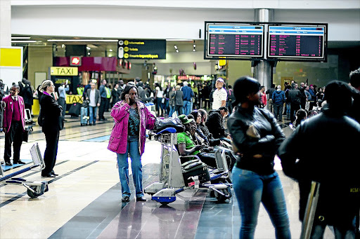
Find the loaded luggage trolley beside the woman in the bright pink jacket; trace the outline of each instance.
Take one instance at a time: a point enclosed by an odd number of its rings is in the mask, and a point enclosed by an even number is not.
[[[219,202],[224,202],[226,199],[231,198],[232,184],[226,182],[226,179],[229,177],[229,169],[224,151],[216,151],[217,169],[214,170],[208,170],[207,165],[202,163],[198,156],[185,156],[196,159],[181,165],[179,154],[174,148],[176,138],[175,128],[166,128],[155,135],[155,139],[161,142],[162,145],[160,180],[147,186],[144,192],[150,194],[152,200],[162,205],[174,202],[176,200],[176,194],[186,189],[210,189],[214,191]],[[192,166],[196,166],[194,168],[198,168],[200,174],[188,177],[189,174],[186,169]],[[217,182],[217,184],[207,184],[209,181]]]

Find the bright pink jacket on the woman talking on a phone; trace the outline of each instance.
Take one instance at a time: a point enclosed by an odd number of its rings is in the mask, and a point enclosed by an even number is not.
[[[146,129],[151,130],[154,128],[155,116],[150,113],[148,108],[139,101],[138,104],[140,116],[140,132],[139,132],[139,152],[143,154],[146,142]],[[129,121],[129,104],[123,100],[117,102],[113,109],[111,109],[111,116],[115,120],[113,131],[110,135],[108,149],[115,153],[126,153],[127,151],[127,125]]]

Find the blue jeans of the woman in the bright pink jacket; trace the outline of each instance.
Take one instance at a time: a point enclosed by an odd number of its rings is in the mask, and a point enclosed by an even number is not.
[[[129,136],[127,139],[127,151],[117,153],[117,166],[119,169],[120,184],[122,196],[130,196],[129,189],[129,163],[127,155],[131,158],[132,179],[135,185],[136,198],[143,197],[143,165],[141,165],[141,156],[139,153],[139,137]]]

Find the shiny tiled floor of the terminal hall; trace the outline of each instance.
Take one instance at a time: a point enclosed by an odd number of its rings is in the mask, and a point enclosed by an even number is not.
[[[24,186],[0,185],[0,238],[238,238],[240,212],[234,196],[228,203],[217,203],[207,191],[187,190],[167,206],[153,200],[135,202],[134,198],[122,203],[116,155],[106,149],[113,128],[108,119],[81,127],[78,118],[68,118],[60,132],[54,168],[59,176],[43,178],[35,171],[20,175],[27,180],[49,180],[49,191],[43,196],[31,199]],[[284,127],[284,132],[290,134],[291,130]],[[44,134],[38,126],[23,144],[22,159],[31,159],[29,149],[35,142],[44,153]],[[0,158],[3,156],[1,135]],[[146,142],[142,162],[145,187],[158,180],[159,142]],[[299,238],[297,184],[283,175],[278,160],[276,170],[283,183],[293,238]],[[274,237],[262,207],[255,238]]]

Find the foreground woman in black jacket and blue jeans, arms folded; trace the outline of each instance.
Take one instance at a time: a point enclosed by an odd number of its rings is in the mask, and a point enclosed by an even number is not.
[[[260,203],[269,213],[276,238],[291,238],[283,186],[274,171],[274,156],[285,135],[269,111],[255,107],[259,90],[254,78],[239,78],[233,87],[238,109],[228,120],[238,154],[232,179],[241,214],[240,238],[254,237]]]

